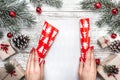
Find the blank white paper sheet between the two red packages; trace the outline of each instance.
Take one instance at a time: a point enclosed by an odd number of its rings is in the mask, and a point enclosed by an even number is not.
[[[79,20],[46,20],[59,29],[48,52],[45,80],[78,80],[80,57]]]

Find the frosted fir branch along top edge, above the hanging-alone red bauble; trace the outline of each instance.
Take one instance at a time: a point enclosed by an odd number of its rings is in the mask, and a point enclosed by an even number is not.
[[[42,6],[42,4],[47,4],[52,7],[61,8],[63,4],[60,0],[30,0],[30,2],[36,7]]]

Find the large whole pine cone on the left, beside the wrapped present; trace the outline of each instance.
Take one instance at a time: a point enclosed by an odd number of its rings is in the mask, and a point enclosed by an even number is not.
[[[13,37],[12,42],[16,48],[18,48],[19,50],[24,50],[25,48],[27,48],[29,40],[30,39],[28,36],[18,35]]]

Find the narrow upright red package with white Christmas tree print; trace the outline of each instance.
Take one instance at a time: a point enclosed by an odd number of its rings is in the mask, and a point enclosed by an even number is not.
[[[81,57],[83,60],[86,58],[86,52],[88,51],[88,48],[90,47],[90,37],[89,37],[89,30],[90,30],[90,23],[89,18],[80,19],[81,27],[80,27],[80,33],[81,33]]]

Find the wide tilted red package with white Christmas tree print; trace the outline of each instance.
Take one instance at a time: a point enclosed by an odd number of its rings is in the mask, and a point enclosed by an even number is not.
[[[45,21],[37,46],[37,51],[40,58],[45,58],[58,32],[59,30],[57,28],[53,27],[51,24]]]

